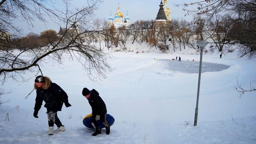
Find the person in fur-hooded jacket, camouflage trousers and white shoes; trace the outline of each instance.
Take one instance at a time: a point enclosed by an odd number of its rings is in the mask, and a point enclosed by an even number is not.
[[[66,107],[71,106],[68,102],[67,93],[62,90],[60,86],[53,83],[47,76],[37,76],[35,78],[34,88],[36,89],[34,117],[38,118],[38,111],[44,101],[44,107],[47,108],[48,115],[48,135],[65,131],[66,129],[64,125],[61,124],[61,121],[57,116],[57,112],[61,111],[63,103]],[[56,124],[58,128],[53,131],[54,124]]]

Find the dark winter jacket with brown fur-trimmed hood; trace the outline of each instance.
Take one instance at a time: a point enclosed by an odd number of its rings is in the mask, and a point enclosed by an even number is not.
[[[67,93],[46,76],[45,84],[42,88],[38,88],[37,85],[34,85],[34,87],[36,89],[34,109],[37,112],[40,110],[43,101],[45,102],[44,107],[47,108],[47,113],[49,111],[61,111],[63,103],[68,102]]]

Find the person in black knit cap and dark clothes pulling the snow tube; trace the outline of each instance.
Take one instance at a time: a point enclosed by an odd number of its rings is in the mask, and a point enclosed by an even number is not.
[[[87,88],[84,88],[82,91],[82,95],[87,98],[90,106],[92,107],[92,125],[96,130],[95,133],[92,134],[92,136],[97,136],[101,133],[101,129],[99,128],[99,125],[97,123],[97,121],[99,120],[103,122],[106,127],[106,134],[109,135],[110,125],[106,120],[107,107],[105,102],[99,96],[99,93],[94,89],[88,90]]]

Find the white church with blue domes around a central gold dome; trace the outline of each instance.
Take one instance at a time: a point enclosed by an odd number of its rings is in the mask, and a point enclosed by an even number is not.
[[[130,25],[130,17],[128,17],[128,12],[126,14],[126,17],[123,19],[123,14],[122,14],[119,4],[118,4],[118,8],[117,8],[115,17],[113,18],[110,13],[110,17],[108,18],[108,24],[115,25],[116,27],[119,27],[122,25],[126,25],[126,26]]]

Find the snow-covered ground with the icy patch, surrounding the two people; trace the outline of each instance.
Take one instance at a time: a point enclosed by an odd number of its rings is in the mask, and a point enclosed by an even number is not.
[[[190,53],[190,52],[188,52]],[[58,117],[66,131],[48,136],[44,107],[33,117],[34,73],[28,82],[9,80],[1,86],[12,93],[2,95],[0,107],[1,144],[255,144],[256,93],[241,98],[237,81],[248,89],[256,80],[256,59],[237,54],[204,54],[199,98],[198,124],[194,124],[200,55],[159,52],[111,53],[113,69],[102,81],[92,82],[78,62],[45,65],[42,71],[63,88],[72,107],[63,107]],[[176,56],[181,56],[178,62]],[[192,60],[195,61],[192,61]],[[255,83],[254,86],[256,85]],[[98,136],[84,127],[91,112],[81,95],[82,88],[96,89],[115,118],[110,135]],[[9,121],[6,115],[9,114]],[[56,126],[55,126],[56,129]]]

